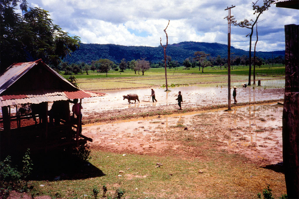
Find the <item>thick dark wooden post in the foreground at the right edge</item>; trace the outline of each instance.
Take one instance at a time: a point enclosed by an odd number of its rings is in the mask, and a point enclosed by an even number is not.
[[[286,85],[282,116],[283,166],[288,198],[299,198],[299,25],[285,25]]]

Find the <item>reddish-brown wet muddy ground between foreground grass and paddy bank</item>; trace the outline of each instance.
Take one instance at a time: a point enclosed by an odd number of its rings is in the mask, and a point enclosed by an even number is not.
[[[240,153],[261,166],[282,162],[282,105],[250,105],[232,111],[213,110],[86,124],[91,148],[115,153],[200,156],[207,140],[222,150]],[[177,137],[183,131],[187,138]],[[181,134],[181,133],[180,133]],[[184,139],[184,140],[182,140]],[[183,141],[190,141],[186,146]]]

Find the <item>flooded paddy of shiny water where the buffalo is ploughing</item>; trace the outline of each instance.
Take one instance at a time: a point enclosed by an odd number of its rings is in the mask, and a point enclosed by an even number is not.
[[[156,99],[158,102],[153,103],[151,97],[151,89],[129,89],[129,90],[112,90],[105,91],[107,96],[98,98],[85,98],[83,103],[83,114],[89,116],[91,112],[101,112],[105,110],[126,109],[130,107],[149,107],[177,104],[176,98],[178,92],[183,95],[182,105],[190,107],[208,106],[212,104],[225,104],[228,101],[228,88],[224,87],[202,87],[202,86],[181,86],[171,87],[171,92],[164,92],[165,88],[154,88]],[[232,95],[233,89],[231,89]],[[123,100],[123,95],[136,93],[139,96],[140,103],[129,104],[128,100]],[[270,99],[283,98],[283,89],[264,89],[262,87],[253,89],[252,87],[237,88],[237,101],[250,102],[262,101]],[[233,97],[231,96],[231,99]],[[144,100],[144,101],[143,101]],[[149,102],[148,102],[149,100]],[[133,101],[134,102],[134,101]]]

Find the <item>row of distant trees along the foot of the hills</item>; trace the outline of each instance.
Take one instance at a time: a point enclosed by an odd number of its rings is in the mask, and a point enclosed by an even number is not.
[[[253,59],[253,57],[251,58]],[[99,73],[107,73],[110,70],[124,72],[126,69],[133,70],[135,74],[144,75],[144,72],[149,70],[150,68],[163,68],[164,60],[161,60],[159,63],[152,63],[145,58],[141,58],[138,60],[126,61],[124,58],[120,61],[120,63],[116,63],[109,59],[99,59],[99,60],[91,60],[91,63],[71,63],[63,62],[59,64],[57,67],[52,65],[52,68],[57,71],[64,71],[64,75],[72,75],[72,74],[83,74],[91,70],[92,72]],[[260,67],[265,64],[284,64],[284,57],[278,56],[274,59],[266,59],[256,57],[256,66]],[[248,56],[232,56],[231,57],[231,66],[248,66],[249,58]],[[177,69],[179,66],[184,66],[187,68],[195,68],[199,67],[199,70],[204,72],[204,68],[208,66],[219,66],[227,68],[227,58],[222,58],[220,55],[217,57],[211,57],[209,54],[206,54],[203,51],[197,51],[194,53],[193,57],[188,57],[184,60],[184,62],[180,63],[177,60],[172,60],[171,56],[166,56],[166,66],[169,69]]]

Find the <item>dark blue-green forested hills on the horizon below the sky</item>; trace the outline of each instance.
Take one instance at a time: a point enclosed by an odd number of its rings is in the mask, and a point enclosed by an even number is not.
[[[177,60],[182,63],[186,58],[193,57],[194,52],[205,51],[210,53],[212,57],[227,57],[227,45],[220,43],[207,43],[207,42],[180,42],[168,45],[166,48],[166,54],[172,57],[172,60]],[[231,46],[232,56],[249,56],[249,51],[237,49]],[[284,57],[284,51],[273,51],[273,52],[261,52],[258,51],[256,54],[258,57],[268,59],[279,55]],[[252,54],[253,56],[253,54]],[[114,62],[120,62],[121,59],[125,58],[126,61],[133,59],[137,60],[145,58],[152,63],[161,62],[164,59],[163,48],[159,47],[148,47],[148,46],[124,46],[116,44],[80,44],[80,48],[73,52],[71,56],[65,57],[63,61],[69,63],[90,63],[91,60],[98,59],[109,59]]]

